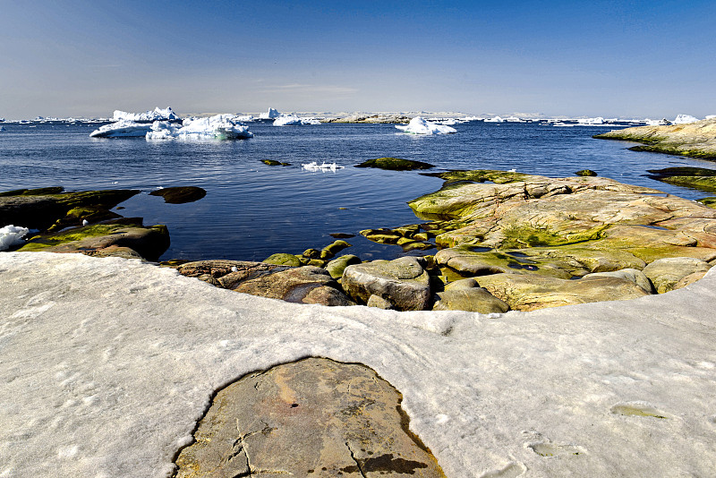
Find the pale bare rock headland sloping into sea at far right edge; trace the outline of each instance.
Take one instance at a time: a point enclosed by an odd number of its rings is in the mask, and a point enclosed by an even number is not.
[[[675,154],[690,158],[716,159],[716,118],[689,124],[636,126],[593,136],[599,140],[644,143],[629,149]]]

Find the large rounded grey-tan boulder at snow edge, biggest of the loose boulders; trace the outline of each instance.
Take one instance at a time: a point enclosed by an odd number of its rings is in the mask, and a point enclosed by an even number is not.
[[[378,295],[401,311],[422,311],[430,303],[430,277],[425,262],[415,257],[373,260],[348,266],[341,285],[360,303]]]

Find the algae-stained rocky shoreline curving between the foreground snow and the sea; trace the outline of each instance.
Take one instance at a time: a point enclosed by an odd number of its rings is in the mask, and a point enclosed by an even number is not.
[[[337,239],[262,262],[161,265],[213,286],[287,302],[490,314],[663,294],[692,284],[716,264],[716,210],[699,202],[593,176],[432,175],[444,180],[443,187],[409,202],[423,222],[360,231],[373,242],[401,246],[405,257],[396,260],[338,255],[351,244]],[[19,251],[156,261],[169,244],[166,226],[143,226],[141,218],[108,210],[134,193],[6,192],[0,222],[51,210],[54,221],[47,215],[30,221],[42,229]],[[191,189],[174,193],[201,196]]]

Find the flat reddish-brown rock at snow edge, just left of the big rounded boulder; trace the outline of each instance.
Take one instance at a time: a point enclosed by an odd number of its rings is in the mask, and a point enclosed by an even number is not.
[[[234,290],[286,302],[354,305],[326,269],[314,266],[273,270],[266,275],[243,280]]]

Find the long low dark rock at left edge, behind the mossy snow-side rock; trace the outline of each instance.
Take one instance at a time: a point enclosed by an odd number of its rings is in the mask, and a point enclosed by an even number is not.
[[[63,192],[60,187],[2,192],[0,224],[45,231],[71,209],[112,209],[137,193],[137,190]]]

